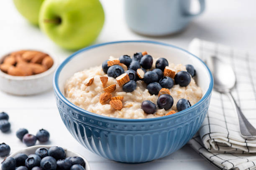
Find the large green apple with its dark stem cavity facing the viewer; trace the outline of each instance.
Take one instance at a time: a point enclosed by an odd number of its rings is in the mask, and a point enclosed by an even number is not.
[[[90,45],[104,24],[99,0],[45,0],[39,26],[51,40],[69,50]]]

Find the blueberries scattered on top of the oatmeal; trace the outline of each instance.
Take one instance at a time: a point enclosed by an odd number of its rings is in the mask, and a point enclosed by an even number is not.
[[[156,61],[155,69],[150,71],[153,65],[153,57],[151,55],[142,55],[141,52],[136,52],[131,58],[129,55],[122,55],[119,57],[120,63],[125,64],[128,67],[126,73],[129,75],[130,81],[123,85],[123,91],[133,92],[136,89],[136,81],[143,80],[147,84],[148,92],[151,95],[158,95],[161,88],[170,89],[174,84],[178,84],[181,87],[186,87],[191,81],[191,77],[195,76],[195,68],[192,65],[186,65],[187,71],[179,71],[174,80],[171,77],[164,76],[164,68],[169,65],[168,61],[165,58],[159,58]],[[109,77],[118,77],[124,73],[123,67],[120,65],[108,66],[108,61],[105,60],[102,63],[102,70],[108,74]],[[140,79],[137,75],[137,69],[141,68],[145,74],[144,78]],[[148,70],[148,71],[147,71]],[[168,94],[161,95],[157,100],[157,106],[160,109],[168,110],[172,107],[174,101],[173,97]],[[189,100],[180,99],[177,102],[177,110],[182,111],[190,107],[191,104]],[[156,112],[156,105],[149,101],[145,100],[141,104],[141,108],[147,114],[153,114]]]

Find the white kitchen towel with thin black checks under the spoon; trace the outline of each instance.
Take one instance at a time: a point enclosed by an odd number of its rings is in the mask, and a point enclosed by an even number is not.
[[[192,40],[189,50],[202,60],[215,55],[233,67],[237,85],[232,94],[256,127],[256,55],[199,39]],[[189,145],[220,169],[256,170],[256,140],[241,137],[238,116],[225,94],[212,92],[206,118]]]

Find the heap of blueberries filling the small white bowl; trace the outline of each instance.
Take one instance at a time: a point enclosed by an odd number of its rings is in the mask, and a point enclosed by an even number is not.
[[[81,157],[68,157],[63,148],[38,148],[34,154],[18,153],[2,163],[2,170],[85,170]]]

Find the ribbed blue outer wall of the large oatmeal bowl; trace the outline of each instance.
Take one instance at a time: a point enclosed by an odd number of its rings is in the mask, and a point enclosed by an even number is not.
[[[67,129],[85,148],[110,160],[141,163],[182,148],[200,128],[210,96],[182,114],[137,122],[106,120],[85,114],[67,105],[58,95],[56,102]]]

